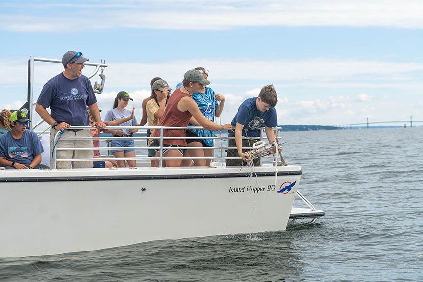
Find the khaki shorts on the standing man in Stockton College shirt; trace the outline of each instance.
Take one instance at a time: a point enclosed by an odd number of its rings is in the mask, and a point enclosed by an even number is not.
[[[50,129],[50,167],[53,168],[53,157],[51,153],[55,142],[53,141],[58,130]],[[57,142],[55,151],[56,159],[60,158],[93,158],[94,151],[91,150],[57,150],[58,148],[88,148],[93,147],[92,140],[62,140],[63,137],[91,137],[90,129],[82,129],[77,132],[66,130]],[[92,168],[93,161],[56,161],[56,168]]]

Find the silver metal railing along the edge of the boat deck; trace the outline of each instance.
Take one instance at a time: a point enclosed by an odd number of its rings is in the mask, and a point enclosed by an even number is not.
[[[71,126],[70,129],[93,129],[93,127],[91,126]],[[163,130],[165,129],[204,129],[203,127],[163,127],[163,126],[156,126],[156,127],[151,127],[151,126],[106,126],[106,129],[138,129],[137,133],[134,133],[134,136],[131,137],[113,137],[113,136],[105,136],[105,137],[61,137],[61,131],[57,131],[55,136],[54,136],[54,142],[53,142],[53,148],[51,148],[50,150],[53,149],[53,152],[51,154],[52,157],[52,168],[56,168],[57,166],[57,162],[60,161],[106,161],[106,160],[136,160],[136,161],[146,161],[146,160],[158,160],[159,164],[158,167],[161,168],[163,167],[163,160],[173,160],[173,159],[206,159],[206,160],[221,160],[222,164],[223,161],[226,159],[241,159],[241,157],[226,157],[223,156],[225,150],[227,149],[237,149],[236,147],[229,147],[227,145],[227,142],[229,139],[235,139],[234,137],[228,137],[227,133],[219,133],[219,136],[214,136],[214,137],[165,137],[163,136]],[[149,137],[146,136],[147,133],[147,129],[154,129],[154,130],[160,130],[160,136],[158,137]],[[260,137],[257,137],[257,141],[266,139],[264,137],[263,131],[264,131],[264,127],[263,128],[259,128],[261,130],[261,134]],[[276,133],[275,136],[280,139],[280,137],[278,136],[278,131],[280,130],[280,128],[275,128]],[[219,131],[215,131],[215,132],[219,132]],[[134,142],[136,142],[136,146],[134,147],[111,147],[111,146],[101,146],[101,147],[78,147],[78,148],[73,148],[73,147],[57,147],[56,144],[59,140],[100,140],[100,142],[106,142],[106,143],[110,143],[107,142],[109,140],[134,140]],[[146,142],[148,140],[151,139],[156,139],[159,141],[159,146],[139,146],[139,142]],[[212,157],[164,157],[163,156],[163,149],[166,149],[166,147],[163,147],[163,140],[168,140],[168,139],[212,139],[212,140],[216,140],[216,141],[220,141],[219,146],[216,146],[217,142],[215,142],[213,147],[190,147],[190,146],[185,146],[185,147],[178,147],[178,149],[182,149],[182,150],[198,150],[198,149],[212,149],[213,150],[213,154]],[[242,139],[246,139],[245,137],[242,137]],[[249,138],[252,139],[252,138]],[[226,144],[226,146],[223,145],[223,143]],[[147,151],[148,149],[158,149],[159,151],[159,157],[148,157],[146,154],[139,154],[136,155],[135,157],[113,157],[113,158],[109,158],[109,157],[104,157],[104,158],[57,158],[57,151],[63,151],[63,150],[108,150],[108,156],[110,155],[109,152],[110,150],[116,150],[116,149],[133,149],[135,150],[135,152],[139,152],[140,150],[145,150]],[[242,149],[252,149],[252,147],[242,147]],[[220,154],[216,154],[220,152]],[[278,160],[281,160],[281,156],[277,156],[277,154],[275,156],[267,156],[264,157],[266,159],[272,159],[273,163],[277,163]]]

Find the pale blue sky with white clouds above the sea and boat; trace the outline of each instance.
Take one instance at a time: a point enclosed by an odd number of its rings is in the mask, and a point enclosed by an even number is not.
[[[0,0],[0,108],[25,103],[30,56],[75,50],[108,64],[103,118],[124,90],[140,120],[153,77],[175,88],[202,66],[222,124],[267,84],[279,125],[423,121],[422,15],[421,0]],[[35,99],[62,71],[35,63]]]

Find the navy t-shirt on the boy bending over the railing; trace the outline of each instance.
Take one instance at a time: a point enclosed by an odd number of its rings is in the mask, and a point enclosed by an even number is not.
[[[237,123],[244,125],[242,129],[242,136],[244,137],[259,137],[260,130],[257,128],[263,127],[276,127],[277,115],[276,109],[270,108],[265,112],[260,112],[256,106],[258,97],[246,99],[238,108],[238,112],[231,122],[232,127]],[[235,134],[233,130],[229,130],[230,134]]]

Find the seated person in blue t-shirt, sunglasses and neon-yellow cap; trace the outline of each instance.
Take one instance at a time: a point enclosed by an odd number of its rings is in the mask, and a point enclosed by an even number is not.
[[[35,132],[28,130],[30,120],[22,111],[10,116],[12,130],[0,137],[0,165],[6,169],[48,168],[41,163],[44,151]]]

